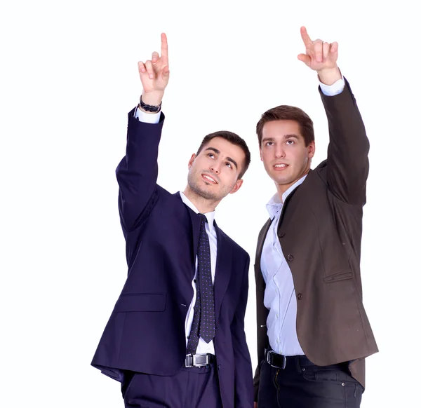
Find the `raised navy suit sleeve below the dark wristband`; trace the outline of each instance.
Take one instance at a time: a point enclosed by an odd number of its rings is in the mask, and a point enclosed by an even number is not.
[[[154,204],[158,178],[158,147],[164,116],[159,123],[144,123],[128,114],[126,156],[116,168],[121,226],[133,231]]]

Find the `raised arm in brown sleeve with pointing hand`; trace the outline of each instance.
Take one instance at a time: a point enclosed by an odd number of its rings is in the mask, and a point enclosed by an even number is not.
[[[301,27],[306,53],[298,59],[319,75],[319,80],[331,86],[342,80],[338,68],[338,43],[312,41]],[[327,182],[330,191],[349,204],[366,202],[369,143],[363,120],[356,106],[349,83],[338,95],[321,93],[329,125]]]

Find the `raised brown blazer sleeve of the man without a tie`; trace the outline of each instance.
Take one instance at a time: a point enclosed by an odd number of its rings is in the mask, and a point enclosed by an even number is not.
[[[348,81],[342,93],[321,99],[329,125],[328,189],[345,203],[364,205],[370,145]]]

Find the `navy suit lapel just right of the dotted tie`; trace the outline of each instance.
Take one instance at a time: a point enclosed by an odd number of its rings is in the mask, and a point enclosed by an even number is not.
[[[220,231],[216,222],[217,254],[215,268],[215,320],[218,321],[222,299],[225,297],[232,271],[232,247],[229,245],[225,234]]]

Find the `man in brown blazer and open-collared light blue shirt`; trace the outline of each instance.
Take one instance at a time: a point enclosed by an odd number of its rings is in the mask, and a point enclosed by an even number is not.
[[[364,358],[377,345],[361,294],[360,254],[368,139],[338,43],[301,29],[298,55],[319,75],[328,158],[314,170],[312,120],[269,109],[257,125],[260,156],[276,185],[255,260],[258,368],[255,407],[359,407]]]

